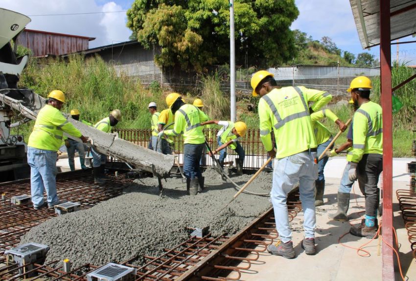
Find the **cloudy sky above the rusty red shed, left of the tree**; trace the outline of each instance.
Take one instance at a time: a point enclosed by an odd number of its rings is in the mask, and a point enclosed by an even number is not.
[[[103,1],[100,1],[101,3]],[[1,8],[23,15],[49,15],[70,13],[91,13],[121,11],[121,6],[113,1],[98,5],[94,0],[1,0]],[[66,33],[95,37],[90,48],[111,44],[112,41],[127,41],[131,34],[126,27],[125,13],[87,14],[73,16],[30,17],[26,27],[49,32]]]

